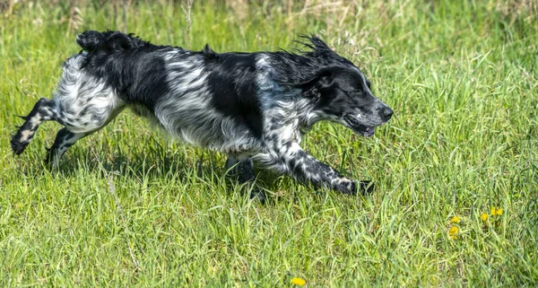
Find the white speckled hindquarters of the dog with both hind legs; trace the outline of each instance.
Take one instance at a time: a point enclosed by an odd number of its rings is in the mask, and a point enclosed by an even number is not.
[[[11,145],[14,153],[24,151],[43,121],[56,120],[65,127],[58,132],[47,158],[56,165],[71,145],[105,127],[126,106],[105,80],[82,70],[84,59],[79,54],[65,61],[54,98],[40,99],[13,135]]]

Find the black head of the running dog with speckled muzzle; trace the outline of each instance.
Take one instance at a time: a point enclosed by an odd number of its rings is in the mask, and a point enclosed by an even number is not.
[[[375,127],[385,124],[393,110],[374,96],[368,79],[357,66],[320,39],[310,40],[315,50],[307,55],[326,61],[300,84],[301,96],[312,102],[322,119],[341,123],[359,135],[374,135]]]

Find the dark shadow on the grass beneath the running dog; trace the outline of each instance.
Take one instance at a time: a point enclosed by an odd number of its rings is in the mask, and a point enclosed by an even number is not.
[[[249,188],[247,185],[239,184],[237,179],[226,175],[227,171],[224,168],[226,155],[222,153],[201,149],[192,149],[192,152],[185,153],[182,149],[174,150],[161,146],[146,147],[144,151],[138,148],[136,149],[138,151],[124,153],[119,148],[110,150],[110,147],[105,147],[105,145],[88,147],[88,149],[74,147],[65,154],[56,170],[48,168],[44,161],[45,153],[40,157],[40,164],[35,161],[25,161],[23,158],[26,157],[23,157],[17,160],[20,163],[18,170],[32,179],[40,179],[48,173],[74,178],[83,172],[98,175],[103,180],[106,180],[109,175],[120,175],[122,178],[132,179],[139,183],[195,178],[200,183],[219,187],[222,186],[222,180],[224,180],[229,194],[240,190],[247,196],[250,195],[251,189],[255,192],[264,192],[265,205],[274,205],[281,199],[280,193],[274,191],[282,189],[282,181],[287,178],[256,168],[256,184]],[[35,155],[30,158],[35,158]]]

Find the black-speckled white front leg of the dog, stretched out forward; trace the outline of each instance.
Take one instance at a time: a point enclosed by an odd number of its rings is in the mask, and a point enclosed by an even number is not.
[[[303,183],[325,186],[351,195],[357,194],[357,185],[359,185],[360,193],[370,192],[373,188],[369,182],[357,183],[353,179],[344,177],[331,166],[309,155],[297,142],[284,144],[278,149],[278,154],[285,170]]]

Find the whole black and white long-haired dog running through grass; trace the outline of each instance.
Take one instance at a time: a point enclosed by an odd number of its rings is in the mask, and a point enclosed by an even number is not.
[[[355,194],[367,182],[343,177],[300,147],[301,135],[329,120],[371,136],[393,115],[360,69],[321,39],[307,52],[216,53],[152,45],[118,31],[85,31],[65,60],[52,100],[40,99],[13,135],[20,154],[43,121],[64,128],[48,152],[54,167],[77,140],[127,106],[188,144],[227,153],[239,180],[253,161],[316,186]]]

